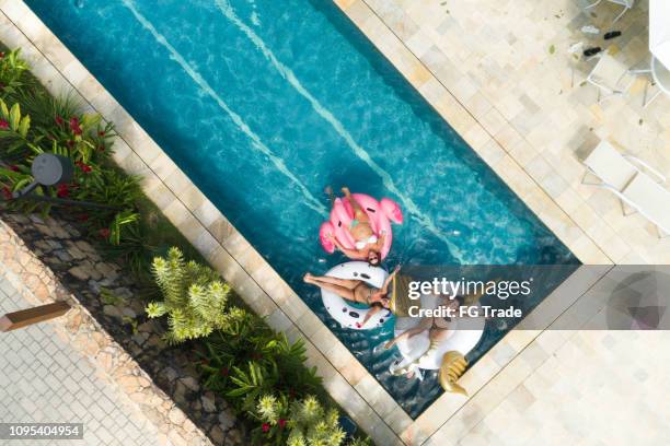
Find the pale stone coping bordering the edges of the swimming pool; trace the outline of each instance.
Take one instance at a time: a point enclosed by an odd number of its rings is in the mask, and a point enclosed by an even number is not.
[[[376,36],[371,39],[382,52],[388,57],[398,55],[391,59],[398,70],[582,262],[611,263],[536,185],[533,187],[523,169],[480,122],[449,92],[440,90],[439,82],[363,2],[336,2],[363,32],[367,30],[367,35]],[[308,362],[317,367],[325,388],[376,443],[424,443],[454,414],[463,413],[463,408],[489,401],[488,396],[478,394],[487,384],[500,386],[500,380],[512,383],[524,376],[522,360],[533,340],[557,336],[512,330],[461,378],[473,397],[444,394],[413,421],[23,0],[0,0],[0,40],[22,48],[33,73],[49,91],[72,92],[91,110],[115,122],[119,136],[115,161],[142,178],[147,196],[255,312],[290,339],[304,340]],[[395,48],[395,52],[389,48]],[[551,297],[541,305],[550,305]]]

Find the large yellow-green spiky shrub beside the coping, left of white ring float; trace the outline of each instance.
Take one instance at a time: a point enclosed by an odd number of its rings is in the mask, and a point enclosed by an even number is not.
[[[206,337],[227,327],[230,287],[210,268],[185,261],[182,251],[173,247],[168,257],[153,259],[153,278],[163,301],[151,302],[147,314],[151,318],[168,315],[169,342]]]

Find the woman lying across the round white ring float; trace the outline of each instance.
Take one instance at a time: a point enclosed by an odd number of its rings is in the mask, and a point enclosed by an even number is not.
[[[393,272],[389,274],[381,289],[371,286],[362,280],[337,279],[330,275],[312,275],[309,272],[304,274],[303,280],[305,283],[332,291],[347,301],[369,305],[370,310],[361,324],[361,326],[363,326],[368,319],[377,313],[384,308],[389,308],[389,284],[397,271],[400,271],[400,266],[395,267]]]

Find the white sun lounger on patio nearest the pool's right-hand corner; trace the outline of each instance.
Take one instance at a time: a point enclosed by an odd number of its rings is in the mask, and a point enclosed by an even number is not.
[[[659,237],[670,234],[670,191],[646,171],[661,183],[666,181],[663,175],[644,161],[620,153],[608,141],[600,141],[584,164],[587,172],[582,184],[610,190],[621,200],[624,215],[639,212],[656,225]],[[600,183],[588,183],[589,175],[598,177]],[[626,206],[633,212],[626,212]]]

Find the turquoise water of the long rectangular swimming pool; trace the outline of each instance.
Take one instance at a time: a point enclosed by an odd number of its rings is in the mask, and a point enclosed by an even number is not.
[[[576,262],[331,0],[26,3],[413,418],[435,375],[392,377],[392,327],[340,329],[301,281],[343,260],[324,186],[403,207],[390,265]]]

